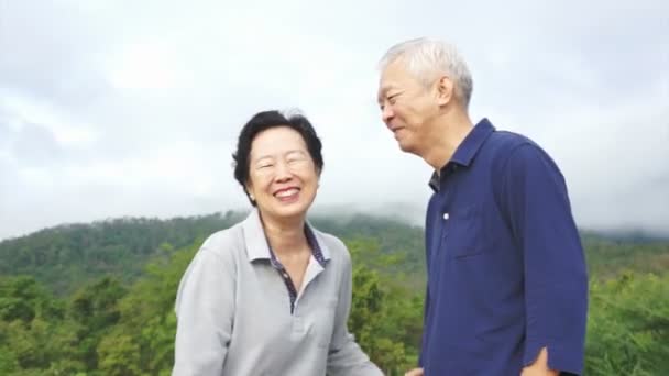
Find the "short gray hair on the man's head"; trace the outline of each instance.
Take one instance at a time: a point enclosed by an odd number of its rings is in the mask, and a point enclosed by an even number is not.
[[[469,108],[473,90],[472,75],[456,46],[426,37],[401,42],[381,58],[381,71],[399,58],[405,62],[407,70],[426,87],[440,75],[449,76],[456,82],[456,97],[465,109]]]

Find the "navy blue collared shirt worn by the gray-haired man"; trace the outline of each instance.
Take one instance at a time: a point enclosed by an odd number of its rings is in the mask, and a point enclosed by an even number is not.
[[[519,375],[541,347],[580,374],[588,276],[553,161],[483,119],[430,186],[426,375]]]

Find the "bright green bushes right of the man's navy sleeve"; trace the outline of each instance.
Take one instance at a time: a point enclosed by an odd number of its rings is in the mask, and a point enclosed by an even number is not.
[[[669,274],[593,283],[590,302],[588,375],[669,375]]]

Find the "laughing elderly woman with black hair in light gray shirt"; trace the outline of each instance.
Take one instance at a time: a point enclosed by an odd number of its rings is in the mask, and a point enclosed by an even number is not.
[[[349,252],[306,222],[320,150],[301,115],[260,112],[242,129],[234,177],[254,209],[182,278],[173,375],[382,375],[347,328]]]

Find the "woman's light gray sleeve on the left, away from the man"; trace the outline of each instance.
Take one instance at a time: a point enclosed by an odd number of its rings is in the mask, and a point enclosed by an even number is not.
[[[173,375],[221,375],[232,333],[234,264],[205,246],[182,277],[176,298]]]

